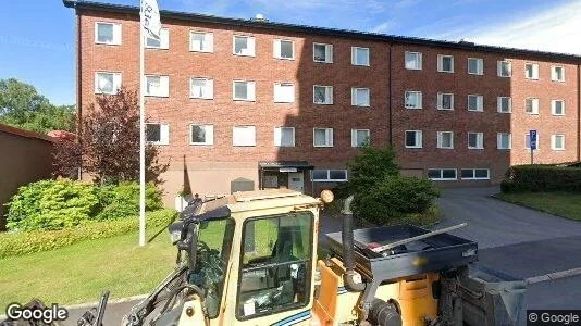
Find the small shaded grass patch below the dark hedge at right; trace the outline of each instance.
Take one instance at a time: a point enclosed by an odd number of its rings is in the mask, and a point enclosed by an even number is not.
[[[496,197],[549,214],[581,221],[581,193],[524,192],[498,193]]]

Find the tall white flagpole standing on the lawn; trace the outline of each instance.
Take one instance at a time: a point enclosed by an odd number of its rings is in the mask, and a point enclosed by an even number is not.
[[[139,5],[139,246],[145,246],[145,53],[144,53],[144,7]]]

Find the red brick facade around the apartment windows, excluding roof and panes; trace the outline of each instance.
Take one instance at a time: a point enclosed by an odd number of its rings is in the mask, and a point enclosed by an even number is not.
[[[77,15],[78,106],[85,108],[95,100],[95,73],[99,71],[121,73],[123,87],[137,88],[137,13],[78,8]],[[122,43],[97,45],[96,22],[121,24]],[[150,122],[170,126],[169,145],[161,146],[162,159],[171,163],[165,177],[169,198],[182,187],[184,168],[188,171],[191,189],[201,195],[227,193],[230,181],[237,177],[251,179],[258,186],[259,161],[308,161],[314,168],[345,168],[358,151],[351,147],[351,129],[369,129],[374,145],[391,140],[407,173],[425,176],[433,167],[457,168],[455,184],[462,183],[460,168],[490,168],[491,180],[472,181],[487,184],[499,181],[510,164],[528,163],[530,154],[524,148],[524,135],[529,129],[537,129],[540,135],[536,162],[579,160],[578,64],[581,60],[412,45],[358,38],[348,33],[325,35],[308,29],[263,28],[260,23],[242,26],[162,15],[162,24],[169,28],[169,49],[146,49],[145,65],[146,74],[169,76],[169,97],[147,97],[146,112]],[[213,33],[213,53],[190,51],[190,30]],[[256,55],[233,55],[234,35],[254,36]],[[273,58],[276,38],[294,41],[295,60]],[[313,42],[333,45],[333,63],[313,62]],[[351,64],[351,47],[369,48],[370,66]],[[405,68],[406,51],[422,53],[421,70]],[[438,54],[454,55],[454,73],[437,72]],[[483,75],[467,73],[468,58],[483,59]],[[511,78],[497,76],[498,60],[511,62]],[[524,78],[527,62],[539,64],[539,80]],[[552,65],[565,67],[565,82],[551,80]],[[213,99],[191,99],[191,77],[213,78]],[[256,82],[256,101],[234,101],[234,79]],[[277,82],[295,85],[294,103],[274,102],[273,88]],[[332,105],[313,104],[313,85],[333,86]],[[369,108],[351,105],[351,87],[370,89]],[[421,110],[405,109],[406,90],[422,91]],[[454,93],[453,111],[437,110],[437,92]],[[483,96],[483,112],[467,110],[467,96],[471,93]],[[497,112],[496,101],[500,96],[512,98],[512,113]],[[539,98],[539,115],[524,112],[528,97]],[[564,116],[552,114],[552,99],[566,102]],[[190,124],[212,124],[213,145],[190,145]],[[256,126],[255,147],[233,147],[235,125]],[[295,147],[274,146],[273,130],[279,126],[295,128]],[[314,127],[334,129],[333,147],[313,147]],[[405,130],[422,130],[421,149],[405,147]],[[436,148],[437,131],[454,131],[454,149]],[[469,131],[483,133],[484,149],[468,149]],[[497,149],[497,133],[511,133],[511,150]],[[553,134],[566,136],[565,150],[551,149]],[[305,180],[308,191],[326,185],[311,184],[308,174]]]

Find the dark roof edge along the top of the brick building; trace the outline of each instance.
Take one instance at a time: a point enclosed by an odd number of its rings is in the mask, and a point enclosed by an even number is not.
[[[139,14],[139,8],[135,5],[111,4],[111,3],[85,1],[85,0],[63,0],[63,4],[66,8],[92,9],[92,10],[98,10],[98,11],[129,13],[129,14],[135,14],[135,15]],[[269,21],[220,17],[220,16],[214,16],[214,15],[188,13],[188,12],[181,12],[181,11],[169,11],[169,10],[160,10],[160,14],[162,17],[166,17],[166,18],[184,20],[184,21],[200,22],[200,23],[213,23],[213,24],[223,24],[223,25],[228,25],[228,26],[255,27],[255,28],[294,32],[294,33],[298,32],[298,33],[308,33],[308,34],[318,34],[318,35],[351,37],[351,38],[359,38],[359,39],[383,40],[383,41],[395,42],[395,43],[432,46],[432,47],[442,47],[442,48],[463,49],[463,50],[471,50],[471,51],[506,53],[506,54],[514,54],[514,55],[534,55],[534,57],[542,57],[542,58],[549,58],[549,59],[557,59],[557,60],[574,61],[577,63],[581,63],[581,55],[576,55],[576,54],[477,45],[477,43],[468,42],[468,41],[456,42],[456,41],[436,40],[436,39],[409,37],[409,36],[397,36],[397,35],[369,33],[369,32],[358,32],[358,30],[326,28],[326,27],[317,27],[317,26],[308,26],[308,25],[276,23],[276,22],[269,22]]]

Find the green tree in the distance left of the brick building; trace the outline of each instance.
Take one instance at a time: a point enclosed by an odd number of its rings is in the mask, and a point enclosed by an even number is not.
[[[75,105],[53,105],[36,88],[17,79],[0,79],[0,123],[47,133],[75,128]]]

